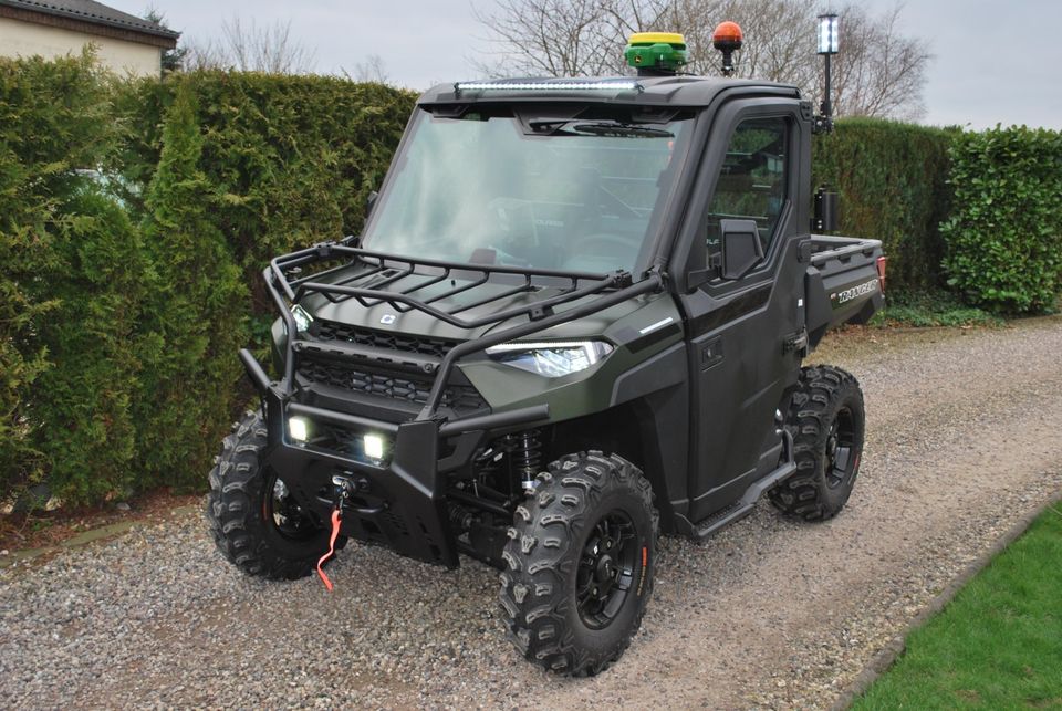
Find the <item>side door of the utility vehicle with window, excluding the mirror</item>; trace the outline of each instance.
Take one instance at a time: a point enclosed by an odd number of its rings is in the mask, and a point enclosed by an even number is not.
[[[801,161],[806,159],[799,103],[733,101],[709,133],[690,218],[690,264],[708,281],[680,299],[689,341],[690,521],[733,503],[772,471],[782,452],[775,411],[796,380],[800,354],[791,347],[803,325],[798,261]],[[748,273],[725,279],[723,221],[751,220],[762,258]],[[746,222],[747,223],[747,222]]]

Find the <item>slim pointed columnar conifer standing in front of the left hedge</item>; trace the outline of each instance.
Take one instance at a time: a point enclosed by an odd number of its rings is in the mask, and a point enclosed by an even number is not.
[[[194,481],[188,462],[209,461],[230,419],[240,377],[231,357],[248,342],[247,287],[212,222],[216,195],[199,169],[202,137],[191,86],[166,113],[158,170],[147,190],[144,241],[160,289],[140,321],[139,464],[167,483]],[[168,475],[167,475],[168,474]]]

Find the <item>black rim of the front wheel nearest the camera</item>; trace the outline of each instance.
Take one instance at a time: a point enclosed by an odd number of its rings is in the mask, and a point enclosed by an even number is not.
[[[575,576],[575,600],[584,625],[604,629],[616,618],[631,595],[637,557],[637,532],[625,512],[612,511],[594,524]]]

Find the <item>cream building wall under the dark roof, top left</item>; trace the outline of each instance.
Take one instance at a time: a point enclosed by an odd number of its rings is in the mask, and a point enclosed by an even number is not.
[[[0,18],[0,56],[77,56],[88,43],[96,45],[100,63],[121,76],[158,76],[162,72],[160,48]]]

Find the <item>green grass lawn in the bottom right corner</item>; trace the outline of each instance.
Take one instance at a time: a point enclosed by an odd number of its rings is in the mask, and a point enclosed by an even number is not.
[[[853,709],[1062,709],[1062,506],[907,639]]]

